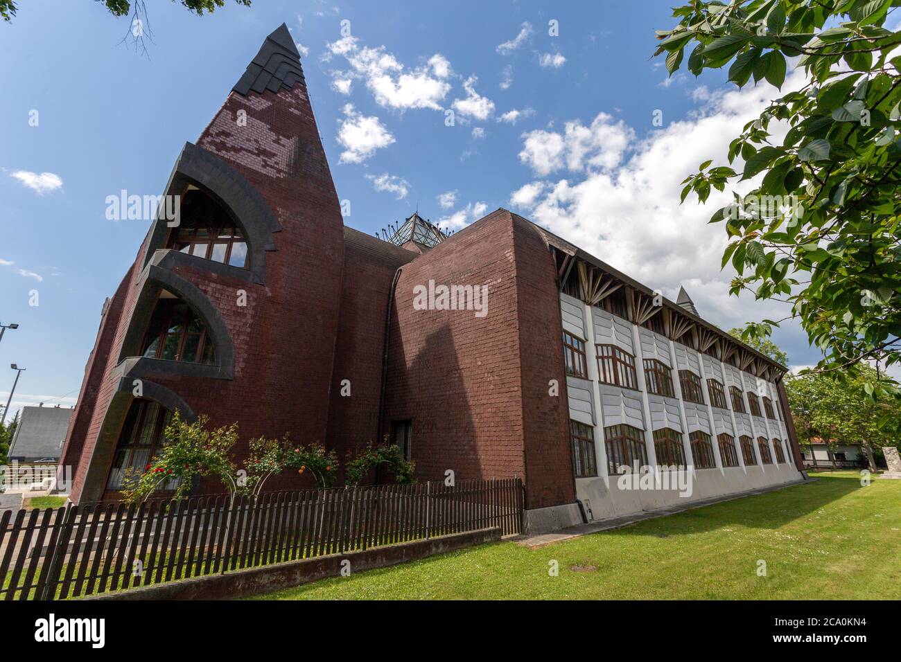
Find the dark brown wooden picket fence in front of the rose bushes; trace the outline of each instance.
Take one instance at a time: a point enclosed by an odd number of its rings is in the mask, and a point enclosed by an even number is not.
[[[69,504],[0,514],[0,599],[102,594],[499,527],[522,532],[505,480]]]

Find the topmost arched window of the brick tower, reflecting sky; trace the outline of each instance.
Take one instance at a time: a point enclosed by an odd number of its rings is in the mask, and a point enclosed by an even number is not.
[[[179,223],[169,232],[167,248],[232,267],[250,267],[241,228],[213,198],[189,188],[181,196],[179,210]]]

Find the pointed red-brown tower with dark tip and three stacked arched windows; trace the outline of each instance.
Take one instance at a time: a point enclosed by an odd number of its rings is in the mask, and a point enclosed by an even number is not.
[[[164,193],[179,196],[177,225],[151,223],[86,367],[61,460],[75,469],[75,503],[118,498],[175,410],[240,422],[239,456],[259,435],[325,440],[343,223],[284,23],[185,145]]]

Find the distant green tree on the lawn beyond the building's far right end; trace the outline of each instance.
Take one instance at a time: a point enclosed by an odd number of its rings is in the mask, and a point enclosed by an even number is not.
[[[878,379],[877,370],[867,364],[840,378],[823,373],[787,375],[786,394],[798,442],[809,446],[822,439],[833,451],[841,444],[860,445],[875,471],[874,452],[881,455],[883,447],[896,446],[901,432],[901,399],[871,397]]]

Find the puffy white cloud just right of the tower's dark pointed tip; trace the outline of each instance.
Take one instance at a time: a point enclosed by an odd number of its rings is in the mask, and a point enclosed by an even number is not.
[[[432,55],[423,66],[405,68],[384,46],[369,48],[356,37],[344,37],[328,44],[323,59],[336,56],[346,59],[350,69],[332,71],[332,87],[346,95],[351,80],[363,80],[376,103],[386,108],[441,110],[440,102],[451,91],[448,78],[453,70],[441,54]]]

